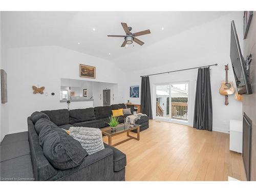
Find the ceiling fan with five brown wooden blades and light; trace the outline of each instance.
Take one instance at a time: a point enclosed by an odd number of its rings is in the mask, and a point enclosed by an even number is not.
[[[124,37],[124,41],[123,41],[121,47],[124,47],[126,44],[132,44],[133,41],[137,42],[137,44],[142,46],[144,44],[144,42],[137,39],[136,37],[140,36],[140,35],[146,35],[146,34],[151,33],[149,29],[140,31],[137,33],[131,33],[131,31],[132,31],[131,27],[128,27],[126,23],[121,23],[121,25],[122,25],[123,30],[126,33],[126,35],[108,35],[108,37]]]

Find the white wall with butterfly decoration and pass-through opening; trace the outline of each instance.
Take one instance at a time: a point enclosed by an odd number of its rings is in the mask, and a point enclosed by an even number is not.
[[[4,134],[27,131],[27,117],[34,111],[67,108],[67,103],[60,103],[60,78],[84,79],[79,77],[79,63],[96,67],[96,79],[118,83],[125,74],[116,69],[113,64],[87,54],[82,54],[56,46],[26,47],[7,49],[4,62],[8,66],[8,118],[9,126],[2,127]],[[122,77],[122,78],[121,78]],[[33,94],[32,86],[45,87],[45,93],[55,92],[55,95]],[[122,91],[117,94],[122,100]],[[93,102],[72,102],[70,108],[86,108]],[[3,116],[2,116],[3,117]]]

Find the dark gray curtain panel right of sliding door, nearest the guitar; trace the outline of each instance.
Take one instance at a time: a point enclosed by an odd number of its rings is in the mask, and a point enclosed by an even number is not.
[[[198,69],[194,127],[198,130],[212,131],[212,101],[209,67]]]

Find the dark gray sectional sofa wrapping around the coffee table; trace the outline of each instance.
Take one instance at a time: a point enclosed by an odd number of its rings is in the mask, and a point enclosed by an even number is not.
[[[76,110],[41,111],[46,114],[50,122],[62,129],[68,130],[71,126],[84,126],[102,128],[108,126],[108,117],[111,110],[125,108],[125,105],[114,104]],[[33,114],[32,114],[33,115]],[[44,150],[39,144],[39,133],[35,123],[39,119],[33,115],[28,117],[28,135],[34,178],[37,181],[48,180],[73,180],[73,181],[124,181],[126,156],[124,153],[104,143],[104,150],[87,155],[80,164],[69,169],[55,168],[44,155]],[[126,115],[127,116],[127,115]],[[126,116],[119,117],[120,123]],[[42,117],[44,118],[44,117]],[[51,125],[51,123],[49,123]],[[148,118],[145,116],[136,122],[141,124],[140,131],[147,129]],[[38,125],[37,125],[38,126]],[[53,126],[53,125],[51,125]]]

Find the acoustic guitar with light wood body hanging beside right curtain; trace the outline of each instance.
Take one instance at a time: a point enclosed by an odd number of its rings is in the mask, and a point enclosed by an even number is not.
[[[221,82],[221,88],[219,90],[221,95],[225,95],[225,105],[228,105],[228,95],[234,94],[233,82],[228,82],[228,65],[225,66],[226,80]]]

